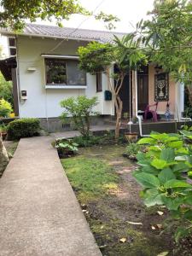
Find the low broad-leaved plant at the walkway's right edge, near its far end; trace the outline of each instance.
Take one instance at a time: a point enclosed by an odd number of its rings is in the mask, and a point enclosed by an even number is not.
[[[76,154],[78,152],[78,146],[79,144],[73,143],[73,139],[59,138],[55,141],[55,148],[61,157]]]

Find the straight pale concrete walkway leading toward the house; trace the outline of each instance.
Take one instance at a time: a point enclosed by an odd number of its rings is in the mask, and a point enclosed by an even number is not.
[[[101,256],[50,145],[21,139],[0,179],[0,255]]]

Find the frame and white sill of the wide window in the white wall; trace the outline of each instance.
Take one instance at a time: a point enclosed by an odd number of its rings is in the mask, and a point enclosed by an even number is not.
[[[79,61],[77,55],[41,55],[44,57],[44,79],[45,89],[86,89],[87,88],[87,76],[84,72],[84,84],[47,84],[47,72],[46,72],[46,59],[61,59],[66,61],[66,76],[67,76],[67,61]]]

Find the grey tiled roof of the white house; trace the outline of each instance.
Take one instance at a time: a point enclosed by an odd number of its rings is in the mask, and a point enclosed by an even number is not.
[[[14,35],[9,29],[1,28],[0,32],[3,35]],[[84,41],[99,41],[102,43],[110,43],[113,40],[113,35],[122,38],[126,33],[120,32],[104,32],[89,29],[80,29],[72,27],[46,26],[37,24],[26,24],[23,32],[17,33],[24,36],[44,37],[44,38],[69,38],[79,39]]]

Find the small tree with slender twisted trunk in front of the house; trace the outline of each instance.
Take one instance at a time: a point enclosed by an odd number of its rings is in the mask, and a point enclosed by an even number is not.
[[[136,70],[147,63],[147,57],[143,49],[139,49],[140,43],[125,38],[114,37],[113,44],[101,44],[91,42],[85,47],[79,47],[79,67],[87,73],[106,73],[108,78],[108,89],[113,94],[113,101],[116,112],[115,138],[119,137],[120,121],[123,109],[123,102],[119,97],[125,75],[131,70]],[[115,65],[118,72],[111,71]],[[115,80],[113,85],[112,79]]]

